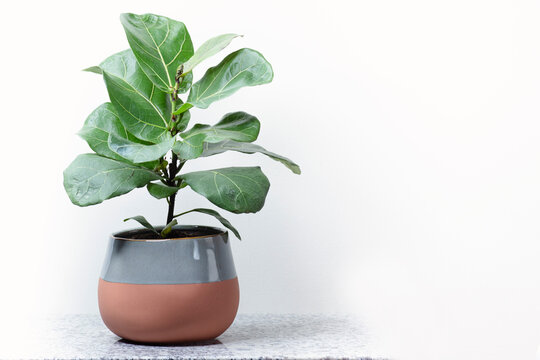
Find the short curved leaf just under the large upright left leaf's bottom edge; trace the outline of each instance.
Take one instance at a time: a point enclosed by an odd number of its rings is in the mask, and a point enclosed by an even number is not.
[[[108,144],[113,152],[124,159],[137,164],[159,159],[172,149],[174,141],[174,137],[168,135],[168,137],[160,143],[143,145],[111,134],[108,139]]]

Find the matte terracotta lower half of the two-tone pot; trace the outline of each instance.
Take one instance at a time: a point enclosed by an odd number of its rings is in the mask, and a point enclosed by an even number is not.
[[[238,278],[201,284],[125,284],[99,279],[101,318],[121,338],[143,343],[214,339],[238,310]]]

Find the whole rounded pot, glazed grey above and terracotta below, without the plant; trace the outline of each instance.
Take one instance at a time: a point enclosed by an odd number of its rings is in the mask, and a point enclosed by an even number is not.
[[[142,343],[214,339],[238,310],[238,278],[228,233],[177,226],[171,239],[113,234],[98,286],[101,318],[116,335]]]

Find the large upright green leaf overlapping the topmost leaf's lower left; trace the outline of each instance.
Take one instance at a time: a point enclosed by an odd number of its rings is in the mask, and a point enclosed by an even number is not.
[[[112,55],[100,68],[111,102],[127,131],[146,141],[163,140],[171,118],[169,95],[146,77],[131,50]]]

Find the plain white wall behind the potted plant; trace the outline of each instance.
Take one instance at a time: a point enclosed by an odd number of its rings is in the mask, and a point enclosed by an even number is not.
[[[152,5],[148,5],[152,4]],[[83,73],[128,47],[121,12],[181,20],[197,47],[245,37],[272,63],[192,121],[258,116],[260,155],[186,170],[261,164],[256,215],[230,215],[241,312],[355,313],[389,355],[533,359],[540,343],[538,1],[10,1],[1,6],[2,242],[7,315],[97,313],[107,236],[166,204],[135,190],[72,205],[62,171],[75,133],[107,100]],[[206,61],[202,70],[222,56]],[[177,210],[210,205],[187,190]],[[190,223],[215,225],[203,215]],[[4,315],[5,316],[5,315]]]

